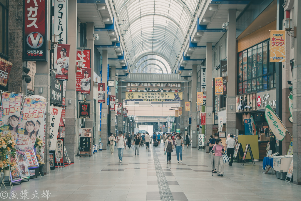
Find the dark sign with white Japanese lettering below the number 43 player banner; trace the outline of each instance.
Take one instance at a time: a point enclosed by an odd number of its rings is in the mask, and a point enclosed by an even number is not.
[[[50,80],[50,102],[51,103],[63,103],[63,81],[55,80],[55,74],[51,72],[51,80]]]

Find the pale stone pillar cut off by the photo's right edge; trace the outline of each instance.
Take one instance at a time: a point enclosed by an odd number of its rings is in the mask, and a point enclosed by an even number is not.
[[[294,26],[301,27],[301,2],[295,1]],[[293,182],[301,185],[301,32],[294,38],[293,67]]]

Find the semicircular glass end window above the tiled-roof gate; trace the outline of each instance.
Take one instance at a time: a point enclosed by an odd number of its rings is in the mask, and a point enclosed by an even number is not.
[[[171,68],[163,57],[146,55],[136,63],[133,73],[171,73]]]

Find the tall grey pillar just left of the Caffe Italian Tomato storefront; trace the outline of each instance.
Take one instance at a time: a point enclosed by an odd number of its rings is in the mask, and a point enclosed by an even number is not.
[[[236,9],[228,10],[228,83],[227,83],[227,101],[226,101],[226,133],[234,134],[236,133],[236,75],[237,75],[237,65],[236,65]],[[208,86],[207,86],[208,87]],[[231,109],[231,106],[233,109]]]

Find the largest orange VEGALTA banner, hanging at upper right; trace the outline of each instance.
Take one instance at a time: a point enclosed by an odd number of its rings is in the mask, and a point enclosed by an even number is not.
[[[285,30],[271,30],[270,61],[285,61]]]

